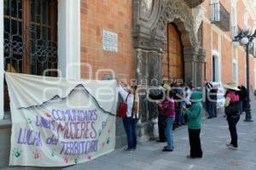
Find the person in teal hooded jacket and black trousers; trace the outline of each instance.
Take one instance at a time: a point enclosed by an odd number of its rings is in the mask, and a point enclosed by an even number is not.
[[[186,109],[183,107],[183,110],[186,115],[188,115],[189,123],[189,144],[190,144],[190,155],[189,158],[201,158],[201,114],[202,114],[202,105],[201,105],[202,93],[193,92],[190,97],[191,107]]]

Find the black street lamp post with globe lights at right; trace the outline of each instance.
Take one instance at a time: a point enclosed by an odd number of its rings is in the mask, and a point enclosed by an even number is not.
[[[250,27],[246,26],[240,33],[233,38],[234,47],[239,45],[245,46],[247,54],[247,105],[246,105],[246,118],[245,122],[253,122],[251,115],[251,99],[250,99],[250,68],[249,68],[249,45],[253,42],[253,39],[256,37],[256,30],[253,34],[250,34]]]

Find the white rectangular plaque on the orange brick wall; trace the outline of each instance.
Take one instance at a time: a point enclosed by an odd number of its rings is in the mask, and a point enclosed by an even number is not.
[[[118,34],[112,31],[103,30],[102,48],[106,51],[118,52],[119,38]]]

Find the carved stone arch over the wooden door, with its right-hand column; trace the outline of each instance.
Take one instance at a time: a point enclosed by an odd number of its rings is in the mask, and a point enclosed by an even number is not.
[[[174,23],[181,33],[183,57],[185,65],[184,82],[201,87],[201,65],[205,53],[198,42],[195,32],[195,20],[191,9],[182,0],[161,2],[159,14],[151,26],[152,35],[161,38],[166,43],[166,28],[168,23]]]

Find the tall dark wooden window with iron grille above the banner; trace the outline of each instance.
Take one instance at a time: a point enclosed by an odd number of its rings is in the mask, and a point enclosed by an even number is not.
[[[4,70],[55,77],[57,0],[4,0]],[[47,71],[47,72],[44,72]],[[4,108],[9,109],[7,87]]]

